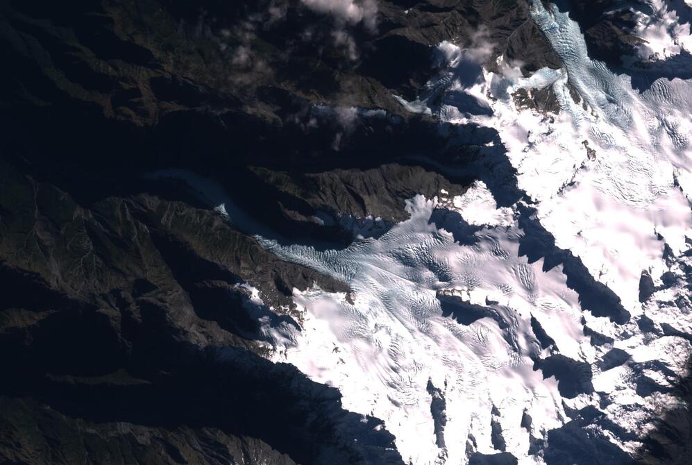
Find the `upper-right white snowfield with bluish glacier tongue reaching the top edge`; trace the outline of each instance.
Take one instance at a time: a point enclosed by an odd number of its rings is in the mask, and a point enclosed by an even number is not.
[[[484,83],[466,92],[485,99],[492,117],[469,118],[444,107],[439,115],[498,129],[518,187],[539,203],[539,218],[557,245],[581,257],[636,314],[641,271],[662,269],[664,243],[674,253],[683,251],[692,226],[689,200],[675,185],[676,177],[686,182],[690,176],[692,83],[661,79],[639,94],[627,76],[589,59],[566,13],[535,2],[532,16],[565,68],[541,69],[530,78],[486,74]],[[445,55],[455,56],[448,49],[445,44]],[[461,86],[444,84],[448,91]],[[518,89],[548,85],[562,107],[559,115],[516,108],[510,98]],[[595,160],[584,141],[596,151]]]

